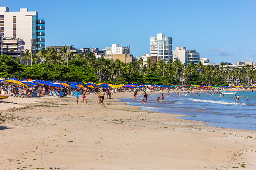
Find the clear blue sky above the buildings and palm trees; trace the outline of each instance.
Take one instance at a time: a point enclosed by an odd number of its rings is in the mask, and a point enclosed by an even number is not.
[[[1,2],[2,1],[2,2]],[[164,33],[211,63],[256,62],[255,0],[0,0],[10,11],[28,8],[46,21],[46,46],[105,49],[129,46],[150,54],[150,37]]]

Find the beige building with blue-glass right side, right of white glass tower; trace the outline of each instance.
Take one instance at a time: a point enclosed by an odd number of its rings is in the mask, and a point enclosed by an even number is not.
[[[175,47],[173,51],[174,60],[178,59],[186,65],[190,64],[192,61],[194,64],[198,64],[200,61],[200,54],[196,50],[187,50],[186,47]]]

